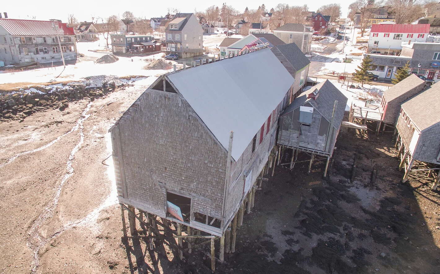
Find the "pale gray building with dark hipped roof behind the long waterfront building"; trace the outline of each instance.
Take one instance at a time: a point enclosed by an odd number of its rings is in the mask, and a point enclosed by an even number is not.
[[[310,26],[288,23],[273,30],[273,34],[284,43],[295,43],[304,54],[308,54],[312,47],[312,30]]]

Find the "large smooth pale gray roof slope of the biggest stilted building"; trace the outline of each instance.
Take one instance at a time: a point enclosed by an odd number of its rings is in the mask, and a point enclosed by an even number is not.
[[[235,160],[294,81],[269,48],[183,69],[168,78],[226,150],[229,132],[234,132]]]

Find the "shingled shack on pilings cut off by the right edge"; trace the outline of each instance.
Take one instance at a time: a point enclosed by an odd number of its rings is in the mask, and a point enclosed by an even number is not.
[[[440,181],[440,83],[433,84],[403,102],[396,123],[399,170],[402,182],[411,172],[425,173],[433,180],[432,190]]]

